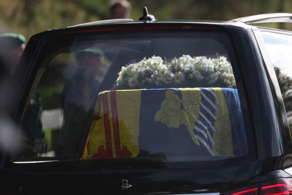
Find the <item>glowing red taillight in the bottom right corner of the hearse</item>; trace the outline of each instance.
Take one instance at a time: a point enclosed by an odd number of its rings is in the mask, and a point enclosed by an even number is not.
[[[221,192],[220,195],[292,195],[292,179],[276,179]]]

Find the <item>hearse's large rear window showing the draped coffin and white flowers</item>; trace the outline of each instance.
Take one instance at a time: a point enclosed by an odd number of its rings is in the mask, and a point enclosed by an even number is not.
[[[35,65],[12,162],[215,163],[253,147],[223,32],[51,38]]]

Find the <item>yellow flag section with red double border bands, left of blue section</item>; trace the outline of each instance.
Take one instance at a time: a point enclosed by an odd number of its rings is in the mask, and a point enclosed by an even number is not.
[[[141,90],[101,92],[81,159],[136,157],[140,104]]]

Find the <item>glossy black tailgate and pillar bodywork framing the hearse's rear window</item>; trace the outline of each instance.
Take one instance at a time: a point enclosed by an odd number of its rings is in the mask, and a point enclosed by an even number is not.
[[[0,170],[1,175],[6,179],[1,177],[0,188],[7,188],[4,184],[5,180],[13,180],[11,183],[14,186],[13,190],[18,191],[21,188],[21,191],[31,194],[200,194],[218,193],[270,179],[291,177],[289,171],[281,170],[283,159],[288,162],[291,158],[288,155],[283,158],[284,154],[290,153],[291,139],[282,143],[283,137],[287,136],[288,123],[283,111],[283,100],[279,96],[279,85],[277,86],[277,79],[275,80],[271,70],[272,64],[257,28],[240,22],[127,22],[63,28],[36,34],[29,40],[15,71],[14,77],[17,79],[13,83],[13,88],[19,93],[14,96],[16,103],[12,113],[13,119],[18,123],[21,119],[25,99],[38,70],[34,61],[47,37],[61,32],[123,25],[211,25],[226,29],[234,41],[233,47],[237,51],[237,61],[241,67],[238,71],[241,71],[244,82],[242,84],[245,86],[248,100],[247,105],[242,107],[243,112],[251,116],[251,126],[246,128],[254,132],[256,158],[210,168],[77,171],[74,162],[68,162],[67,165],[58,161],[16,164],[11,163],[11,156],[6,154],[5,158],[2,158]],[[77,34],[69,34],[69,36]],[[81,164],[81,166],[85,165]],[[128,180],[128,184],[132,187],[122,190],[121,180]]]

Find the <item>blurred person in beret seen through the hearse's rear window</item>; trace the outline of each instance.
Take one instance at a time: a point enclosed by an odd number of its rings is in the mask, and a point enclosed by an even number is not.
[[[63,87],[64,125],[59,134],[57,155],[69,156],[72,151],[83,153],[84,148],[79,146],[88,136],[98,89],[107,73],[103,60],[102,51],[84,49],[77,52],[76,65],[67,65],[63,72],[67,78]]]

